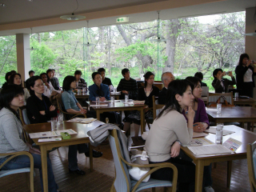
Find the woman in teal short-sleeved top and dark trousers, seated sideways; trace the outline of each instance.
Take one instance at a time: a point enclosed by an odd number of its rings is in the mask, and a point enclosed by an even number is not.
[[[64,78],[62,86],[62,89],[64,90],[64,92],[62,93],[62,102],[65,106],[65,110],[68,113],[86,114],[87,117],[94,117],[94,115],[91,115],[91,111],[83,109],[82,106],[79,104],[78,100],[74,97],[74,92],[72,90],[75,88],[76,82],[74,76],[66,76],[66,78]],[[84,152],[86,154],[86,157],[90,156],[89,148],[86,144],[69,146],[69,170],[70,172],[75,172],[76,174],[86,174],[86,172],[78,168],[78,149],[79,151]],[[94,158],[100,158],[102,157],[102,152],[93,150],[93,156]]]

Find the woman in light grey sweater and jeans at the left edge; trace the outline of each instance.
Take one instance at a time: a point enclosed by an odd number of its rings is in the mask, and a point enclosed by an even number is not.
[[[42,187],[42,162],[40,150],[33,148],[22,140],[22,122],[18,118],[18,107],[24,104],[24,91],[21,86],[7,85],[0,94],[0,153],[12,153],[28,151],[34,158],[34,168],[39,169]],[[0,164],[6,161],[7,156],[0,156]],[[2,170],[12,170],[30,167],[30,158],[20,155],[7,162]],[[58,191],[58,185],[54,179],[54,173],[50,158],[47,158],[48,190]],[[43,189],[42,189],[43,191]]]

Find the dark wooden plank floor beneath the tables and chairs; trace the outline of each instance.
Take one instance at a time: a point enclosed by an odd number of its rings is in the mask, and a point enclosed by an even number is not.
[[[50,159],[54,169],[55,180],[59,189],[64,191],[110,191],[110,186],[114,181],[114,162],[110,146],[99,146],[98,150],[103,152],[102,158],[94,158],[94,171],[90,172],[89,158],[84,154],[78,154],[79,167],[86,171],[86,175],[80,176],[68,172],[67,147],[61,147],[50,153]],[[226,162],[217,163],[216,169],[212,169],[214,180],[213,188],[215,192],[249,192],[249,178],[246,159],[233,162],[231,186],[226,188]],[[39,182],[39,172],[36,170],[34,178],[34,190],[41,191]],[[7,176],[0,179],[0,191],[29,191],[26,186],[24,174]],[[144,190],[151,191],[151,190]],[[162,191],[158,189],[157,191]]]

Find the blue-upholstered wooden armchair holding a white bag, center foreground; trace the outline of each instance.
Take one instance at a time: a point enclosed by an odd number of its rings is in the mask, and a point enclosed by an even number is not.
[[[158,164],[138,165],[126,162],[119,144],[117,130],[111,130],[109,141],[114,158],[115,167],[115,178],[110,191],[135,192],[145,190],[148,188],[153,188],[153,191],[155,191],[154,188],[159,186],[168,187],[172,192],[176,191],[178,170],[173,164],[171,164],[170,162],[163,162]],[[124,146],[123,149],[127,150],[127,146]],[[152,167],[152,169],[148,173],[146,173],[139,181],[134,181],[130,178],[127,166]],[[146,178],[149,174],[152,174],[154,171],[166,167],[170,167],[171,169],[174,170],[173,181],[162,181],[150,178],[148,182],[142,182],[144,178]]]

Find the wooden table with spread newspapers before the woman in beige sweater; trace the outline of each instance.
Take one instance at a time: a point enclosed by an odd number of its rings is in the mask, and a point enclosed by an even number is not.
[[[234,134],[228,134],[223,137],[223,142],[226,142],[228,138],[234,138],[242,142],[242,146],[238,148],[235,154],[214,154],[214,155],[195,155],[186,146],[182,146],[182,150],[193,159],[196,165],[195,168],[195,191],[202,191],[203,169],[204,166],[209,166],[212,162],[226,162],[227,161],[227,181],[226,186],[230,187],[231,167],[232,160],[246,158],[246,145],[253,143],[256,140],[256,134],[244,130],[238,126],[224,126],[224,130],[235,131]],[[211,142],[215,142],[215,134],[209,134],[206,136]]]

